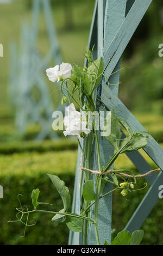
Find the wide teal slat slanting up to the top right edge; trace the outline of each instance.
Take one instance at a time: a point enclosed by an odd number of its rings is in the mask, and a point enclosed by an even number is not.
[[[134,2],[129,13],[127,14],[126,19],[122,23],[122,26],[116,33],[114,39],[104,54],[104,63],[108,63],[109,59],[111,59],[108,67],[105,70],[106,76],[111,75],[124,49],[131,39],[131,36],[134,34],[135,29],[139,25],[142,17],[145,15],[151,2],[152,0],[136,0]]]

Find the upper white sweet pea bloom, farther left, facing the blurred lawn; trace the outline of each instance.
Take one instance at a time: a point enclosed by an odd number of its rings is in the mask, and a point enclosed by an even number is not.
[[[49,68],[46,70],[46,74],[50,81],[59,82],[68,77],[71,77],[72,66],[70,63],[64,63],[54,66],[54,68]]]

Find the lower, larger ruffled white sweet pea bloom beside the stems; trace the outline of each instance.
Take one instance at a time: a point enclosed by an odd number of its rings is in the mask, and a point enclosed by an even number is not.
[[[90,130],[86,128],[87,122],[81,120],[81,113],[76,111],[73,103],[70,106],[65,108],[66,116],[64,117],[65,131],[64,135],[74,135],[80,139],[81,133],[87,135],[90,133]]]

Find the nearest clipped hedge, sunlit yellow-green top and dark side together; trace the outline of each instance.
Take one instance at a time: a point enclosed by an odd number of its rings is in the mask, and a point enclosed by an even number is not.
[[[54,205],[42,205],[42,209],[60,210],[62,207],[61,199],[46,174],[59,175],[70,188],[72,195],[76,162],[77,150],[0,155],[0,184],[4,187],[4,199],[0,199],[0,245],[67,244],[68,229],[66,225],[64,223],[52,223],[52,215],[37,214],[35,216],[36,225],[27,228],[24,238],[20,238],[23,234],[22,225],[20,223],[7,223],[7,221],[15,220],[15,208],[18,206],[17,194],[23,194],[22,203],[27,204],[28,208],[32,209],[30,194],[33,188],[40,189],[42,202],[49,202]],[[152,164],[152,162],[150,163]],[[152,166],[155,167],[154,164]],[[126,156],[121,156],[116,162],[116,167],[132,169],[133,165]],[[143,187],[144,182],[144,179],[139,179],[139,185],[135,188]],[[122,197],[119,193],[113,194],[112,228],[116,229],[115,234],[125,227],[148,188],[149,186],[145,190],[131,193],[129,198]],[[163,202],[159,199],[143,224],[142,228],[145,230],[143,244],[145,245],[162,245],[162,206]]]

